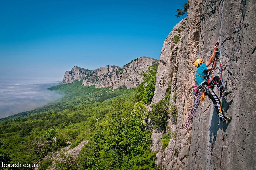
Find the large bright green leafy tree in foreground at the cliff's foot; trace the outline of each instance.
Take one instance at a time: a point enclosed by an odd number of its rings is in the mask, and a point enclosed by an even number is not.
[[[147,110],[142,102],[115,102],[106,120],[95,126],[79,155],[82,169],[150,169],[155,153],[145,130]],[[143,159],[139,160],[140,157]],[[137,167],[137,168],[136,168]],[[144,168],[142,168],[144,167]]]

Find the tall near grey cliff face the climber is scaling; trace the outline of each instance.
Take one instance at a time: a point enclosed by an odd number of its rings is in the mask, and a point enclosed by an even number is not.
[[[156,131],[152,133],[151,149],[157,151],[156,162],[163,169],[255,169],[255,2],[200,3],[188,1],[187,18],[164,42],[152,103],[163,99],[171,88],[170,105],[177,107],[178,114],[177,121],[168,120],[168,131],[175,136],[166,149],[162,149],[162,133]],[[222,98],[222,108],[232,121],[219,123],[206,96],[186,130],[183,125],[194,100],[194,61],[207,61],[217,41],[223,80],[227,80],[224,87],[232,91]],[[214,76],[220,75],[219,69],[218,65]]]

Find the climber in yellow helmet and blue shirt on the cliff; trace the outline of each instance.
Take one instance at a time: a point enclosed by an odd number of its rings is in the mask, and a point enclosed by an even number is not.
[[[206,85],[207,72],[215,69],[216,61],[217,61],[217,59],[219,59],[218,55],[216,55],[217,50],[218,50],[218,44],[216,43],[216,45],[213,49],[212,56],[206,63],[202,59],[197,59],[195,61],[195,67],[197,67],[196,82],[197,82],[197,85],[199,85],[199,88],[206,89],[205,94],[212,100],[214,107],[218,113],[218,116],[220,117],[220,121],[227,122],[227,121],[231,121],[232,117],[231,116],[226,117],[223,115],[220,99],[213,91],[214,84],[212,83],[212,81],[210,81],[210,84],[208,86]],[[216,59],[214,59],[215,57],[216,57]],[[208,67],[212,62],[213,62],[212,67]],[[213,81],[218,82],[218,86],[220,87],[219,90],[220,90],[221,97],[225,97],[226,95],[231,93],[230,91],[227,91],[227,92],[223,91],[223,88],[221,86],[222,82],[220,81],[219,76],[215,76],[213,78]]]

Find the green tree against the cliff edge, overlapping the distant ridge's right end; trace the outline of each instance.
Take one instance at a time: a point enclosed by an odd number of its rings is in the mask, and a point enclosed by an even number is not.
[[[154,96],[157,68],[158,65],[151,65],[147,71],[141,72],[141,75],[144,76],[143,82],[137,86],[135,93],[144,103],[151,102]]]

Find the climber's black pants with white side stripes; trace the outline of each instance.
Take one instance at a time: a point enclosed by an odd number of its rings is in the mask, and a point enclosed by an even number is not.
[[[214,79],[215,82],[218,82],[220,77],[215,76],[213,79]],[[220,82],[219,85],[221,86],[221,82]],[[222,109],[220,108],[221,102],[220,102],[220,99],[218,98],[218,96],[214,93],[213,88],[214,88],[214,86],[211,86],[211,88],[207,87],[205,95],[207,95],[212,100],[212,103],[213,103],[213,105],[214,105],[214,107],[215,107],[215,109],[218,113],[218,116],[220,117],[220,121],[223,122],[226,119],[223,115]],[[220,89],[220,90],[222,90],[222,89]]]

